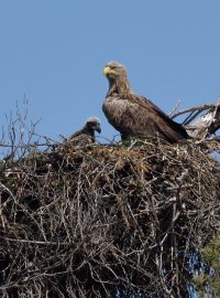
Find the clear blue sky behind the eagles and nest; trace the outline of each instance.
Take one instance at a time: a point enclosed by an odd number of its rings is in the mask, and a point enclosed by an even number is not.
[[[220,95],[219,0],[2,0],[0,124],[29,99],[37,132],[54,139],[98,116],[102,137],[117,132],[101,110],[110,60],[132,88],[169,111]],[[21,105],[22,106],[22,105]]]

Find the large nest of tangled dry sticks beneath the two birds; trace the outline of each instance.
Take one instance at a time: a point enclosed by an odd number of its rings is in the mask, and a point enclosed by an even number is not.
[[[188,297],[193,256],[220,231],[219,163],[194,142],[1,167],[2,297]]]

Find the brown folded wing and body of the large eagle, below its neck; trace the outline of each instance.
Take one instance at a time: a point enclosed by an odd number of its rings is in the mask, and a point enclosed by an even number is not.
[[[151,100],[133,93],[113,94],[106,98],[103,111],[121,135],[160,136],[169,142],[188,137],[186,130],[173,121]]]

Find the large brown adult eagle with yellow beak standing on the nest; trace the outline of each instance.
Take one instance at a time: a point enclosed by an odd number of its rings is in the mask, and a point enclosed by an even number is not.
[[[122,140],[158,136],[168,142],[176,142],[188,138],[182,125],[151,100],[132,92],[122,64],[109,62],[103,74],[109,81],[109,91],[102,110],[108,121],[120,131]]]

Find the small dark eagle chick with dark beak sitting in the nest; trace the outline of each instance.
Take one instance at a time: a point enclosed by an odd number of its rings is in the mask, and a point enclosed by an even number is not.
[[[72,142],[76,146],[92,143],[96,140],[95,131],[100,134],[101,125],[98,118],[90,117],[80,130],[77,130],[67,139],[67,142]]]

